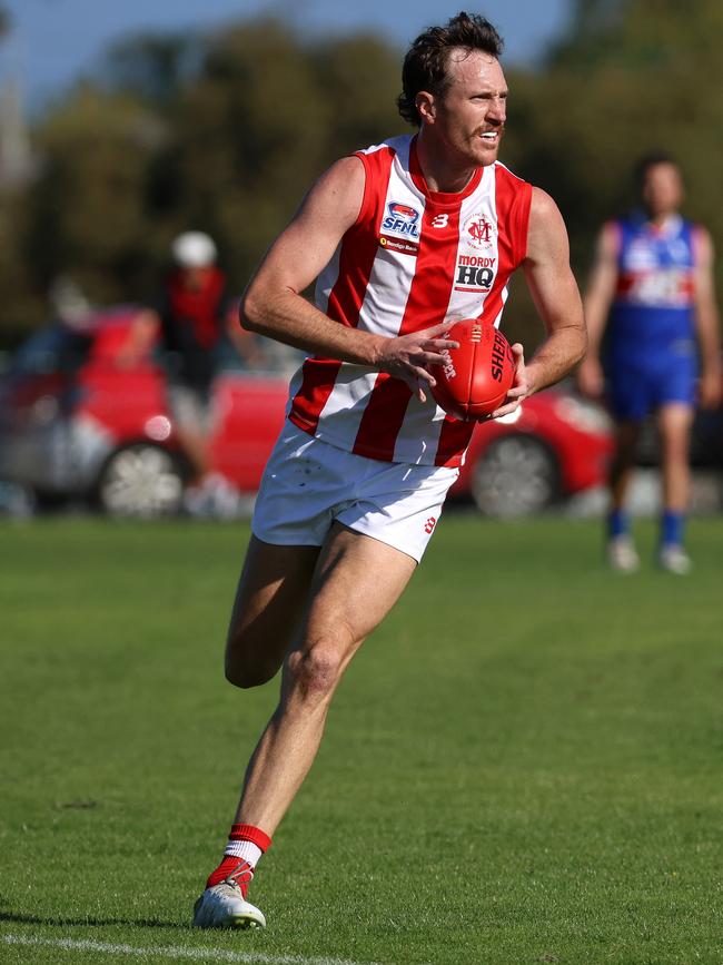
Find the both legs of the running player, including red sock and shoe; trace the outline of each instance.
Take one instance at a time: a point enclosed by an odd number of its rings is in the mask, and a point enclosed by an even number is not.
[[[229,628],[227,676],[241,687],[261,683],[286,653],[281,697],[249,762],[226,856],[196,903],[194,924],[266,924],[246,900],[255,863],[314,761],[344,670],[415,567],[412,557],[339,524],[320,551],[251,541]]]

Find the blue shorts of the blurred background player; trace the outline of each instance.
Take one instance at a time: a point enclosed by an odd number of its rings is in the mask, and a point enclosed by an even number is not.
[[[640,422],[672,402],[695,405],[697,360],[690,354],[664,358],[608,360],[607,401],[618,420]]]

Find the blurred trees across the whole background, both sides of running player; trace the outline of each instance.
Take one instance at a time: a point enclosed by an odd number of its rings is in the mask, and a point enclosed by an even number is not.
[[[0,57],[11,30],[0,2]],[[632,165],[650,149],[681,160],[686,211],[723,245],[722,41],[720,0],[577,0],[537,68],[507,68],[502,159],[557,200],[581,283],[597,227],[631,204]],[[153,298],[187,228],[215,237],[240,292],[325,167],[407,129],[395,108],[403,52],[373,35],[309,39],[247,19],[125,38],[30,122],[7,81],[0,348],[47,321],[60,277],[98,305]],[[531,345],[539,323],[516,287],[506,324]]]

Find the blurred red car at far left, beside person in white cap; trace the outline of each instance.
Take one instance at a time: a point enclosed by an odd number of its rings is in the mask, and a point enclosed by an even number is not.
[[[31,337],[0,381],[0,480],[43,503],[98,502],[160,515],[182,501],[186,469],[150,357],[119,362],[132,306]]]

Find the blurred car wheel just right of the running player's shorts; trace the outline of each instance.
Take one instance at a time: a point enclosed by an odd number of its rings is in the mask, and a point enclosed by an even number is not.
[[[559,467],[547,446],[529,435],[506,435],[481,454],[472,495],[488,516],[528,516],[559,495]]]

